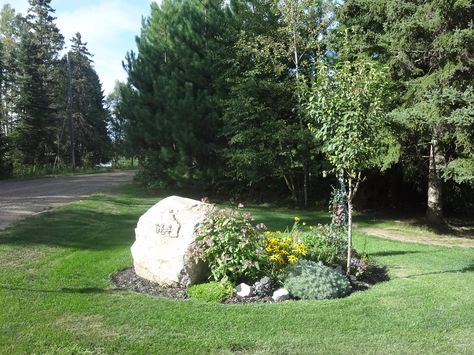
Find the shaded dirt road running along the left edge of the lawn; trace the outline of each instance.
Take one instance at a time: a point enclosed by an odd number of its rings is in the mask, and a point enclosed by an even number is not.
[[[51,207],[131,182],[134,171],[0,181],[0,229]]]

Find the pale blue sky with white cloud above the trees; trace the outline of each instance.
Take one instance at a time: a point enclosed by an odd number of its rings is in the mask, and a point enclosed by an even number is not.
[[[140,33],[142,16],[150,15],[153,0],[52,0],[56,25],[65,38],[80,32],[82,40],[94,57],[105,95],[116,80],[125,81],[122,60],[136,50],[135,36]],[[0,0],[0,7],[9,3],[17,12],[26,14],[28,0]]]

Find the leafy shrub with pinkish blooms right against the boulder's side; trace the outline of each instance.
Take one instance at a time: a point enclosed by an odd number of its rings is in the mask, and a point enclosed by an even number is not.
[[[215,281],[250,281],[262,275],[264,237],[249,213],[216,210],[202,226],[195,257],[205,261]]]

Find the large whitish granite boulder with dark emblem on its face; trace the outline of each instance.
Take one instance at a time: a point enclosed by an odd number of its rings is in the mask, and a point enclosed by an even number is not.
[[[135,228],[131,250],[137,275],[168,285],[204,281],[208,267],[191,254],[199,227],[213,210],[211,204],[178,196],[151,207]]]

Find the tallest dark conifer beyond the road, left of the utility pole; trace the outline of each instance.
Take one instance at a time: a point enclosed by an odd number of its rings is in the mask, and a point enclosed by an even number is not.
[[[54,24],[51,0],[29,0],[19,53],[19,116],[16,145],[23,162],[49,164],[56,154],[60,120],[53,72],[63,37]]]

